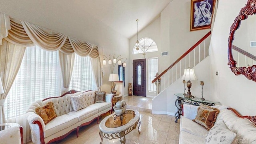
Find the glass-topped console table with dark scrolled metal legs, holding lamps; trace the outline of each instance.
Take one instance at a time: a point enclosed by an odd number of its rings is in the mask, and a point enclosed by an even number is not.
[[[175,113],[175,122],[178,122],[178,119],[180,119],[180,115],[182,112],[182,102],[187,102],[189,104],[192,104],[194,106],[200,106],[202,104],[207,104],[208,106],[214,106],[216,103],[219,102],[212,102],[209,100],[201,100],[200,98],[197,98],[196,96],[194,98],[187,98],[182,93],[176,93],[174,94],[177,96],[177,99],[175,100],[175,106],[178,108],[178,111]]]

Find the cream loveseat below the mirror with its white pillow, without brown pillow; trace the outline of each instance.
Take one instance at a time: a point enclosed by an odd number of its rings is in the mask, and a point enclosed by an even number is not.
[[[256,144],[256,116],[240,116],[227,106],[212,106],[219,110],[214,126],[206,130],[192,121],[198,106],[184,104],[180,119],[180,144]]]

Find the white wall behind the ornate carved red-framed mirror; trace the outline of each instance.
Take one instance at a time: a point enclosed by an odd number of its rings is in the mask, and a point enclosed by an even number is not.
[[[211,38],[210,77],[214,98],[223,105],[235,108],[242,115],[256,115],[256,82],[243,75],[235,76],[228,63],[230,26],[247,0],[220,0]],[[215,71],[219,75],[215,76]]]

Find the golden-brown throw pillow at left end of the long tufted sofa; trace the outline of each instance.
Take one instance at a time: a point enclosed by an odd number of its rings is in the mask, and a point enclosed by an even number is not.
[[[46,103],[46,105],[36,108],[36,114],[38,114],[43,120],[44,124],[48,124],[52,119],[56,118],[56,113],[54,111],[54,106],[52,102]]]

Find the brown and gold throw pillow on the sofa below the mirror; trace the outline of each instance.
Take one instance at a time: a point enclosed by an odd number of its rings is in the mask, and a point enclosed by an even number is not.
[[[198,107],[196,118],[193,121],[206,128],[206,130],[210,130],[214,126],[219,112],[220,110],[217,108],[201,105]]]

